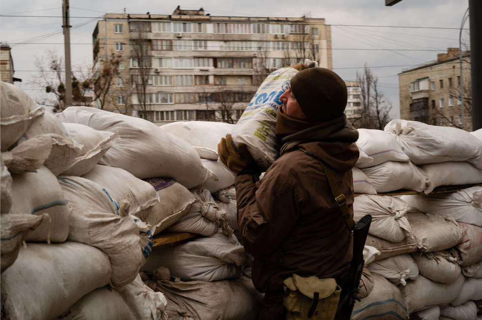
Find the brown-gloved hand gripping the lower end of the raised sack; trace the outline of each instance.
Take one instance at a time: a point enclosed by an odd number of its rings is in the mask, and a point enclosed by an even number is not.
[[[231,138],[231,134],[226,134],[226,138],[221,138],[221,142],[217,145],[217,154],[224,165],[236,175],[246,166],[254,163],[246,145],[240,143],[238,147],[236,147]]]

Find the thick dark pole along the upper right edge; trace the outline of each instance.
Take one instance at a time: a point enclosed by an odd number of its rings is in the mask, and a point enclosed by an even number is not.
[[[469,0],[472,131],[482,128],[482,3]]]

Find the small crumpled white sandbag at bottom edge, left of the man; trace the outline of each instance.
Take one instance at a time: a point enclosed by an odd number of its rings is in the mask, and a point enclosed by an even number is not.
[[[167,300],[164,294],[154,292],[142,282],[138,274],[134,281],[121,291],[121,296],[134,314],[135,319],[139,320],[161,320],[165,319]]]

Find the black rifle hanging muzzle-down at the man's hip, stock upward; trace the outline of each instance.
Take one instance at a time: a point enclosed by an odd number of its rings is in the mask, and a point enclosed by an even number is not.
[[[371,215],[367,214],[355,225],[355,229],[353,230],[353,258],[350,263],[350,268],[336,281],[342,288],[336,312],[338,313],[341,310],[345,320],[349,320],[352,316],[355,299],[360,301],[356,295],[358,293],[358,285],[361,279],[361,271],[365,263],[363,260],[363,248],[365,246],[370,224]]]

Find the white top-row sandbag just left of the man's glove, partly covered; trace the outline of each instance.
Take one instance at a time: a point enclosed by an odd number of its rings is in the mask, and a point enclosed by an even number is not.
[[[235,125],[212,121],[178,121],[160,128],[188,142],[202,159],[217,160],[217,144],[231,133]]]

